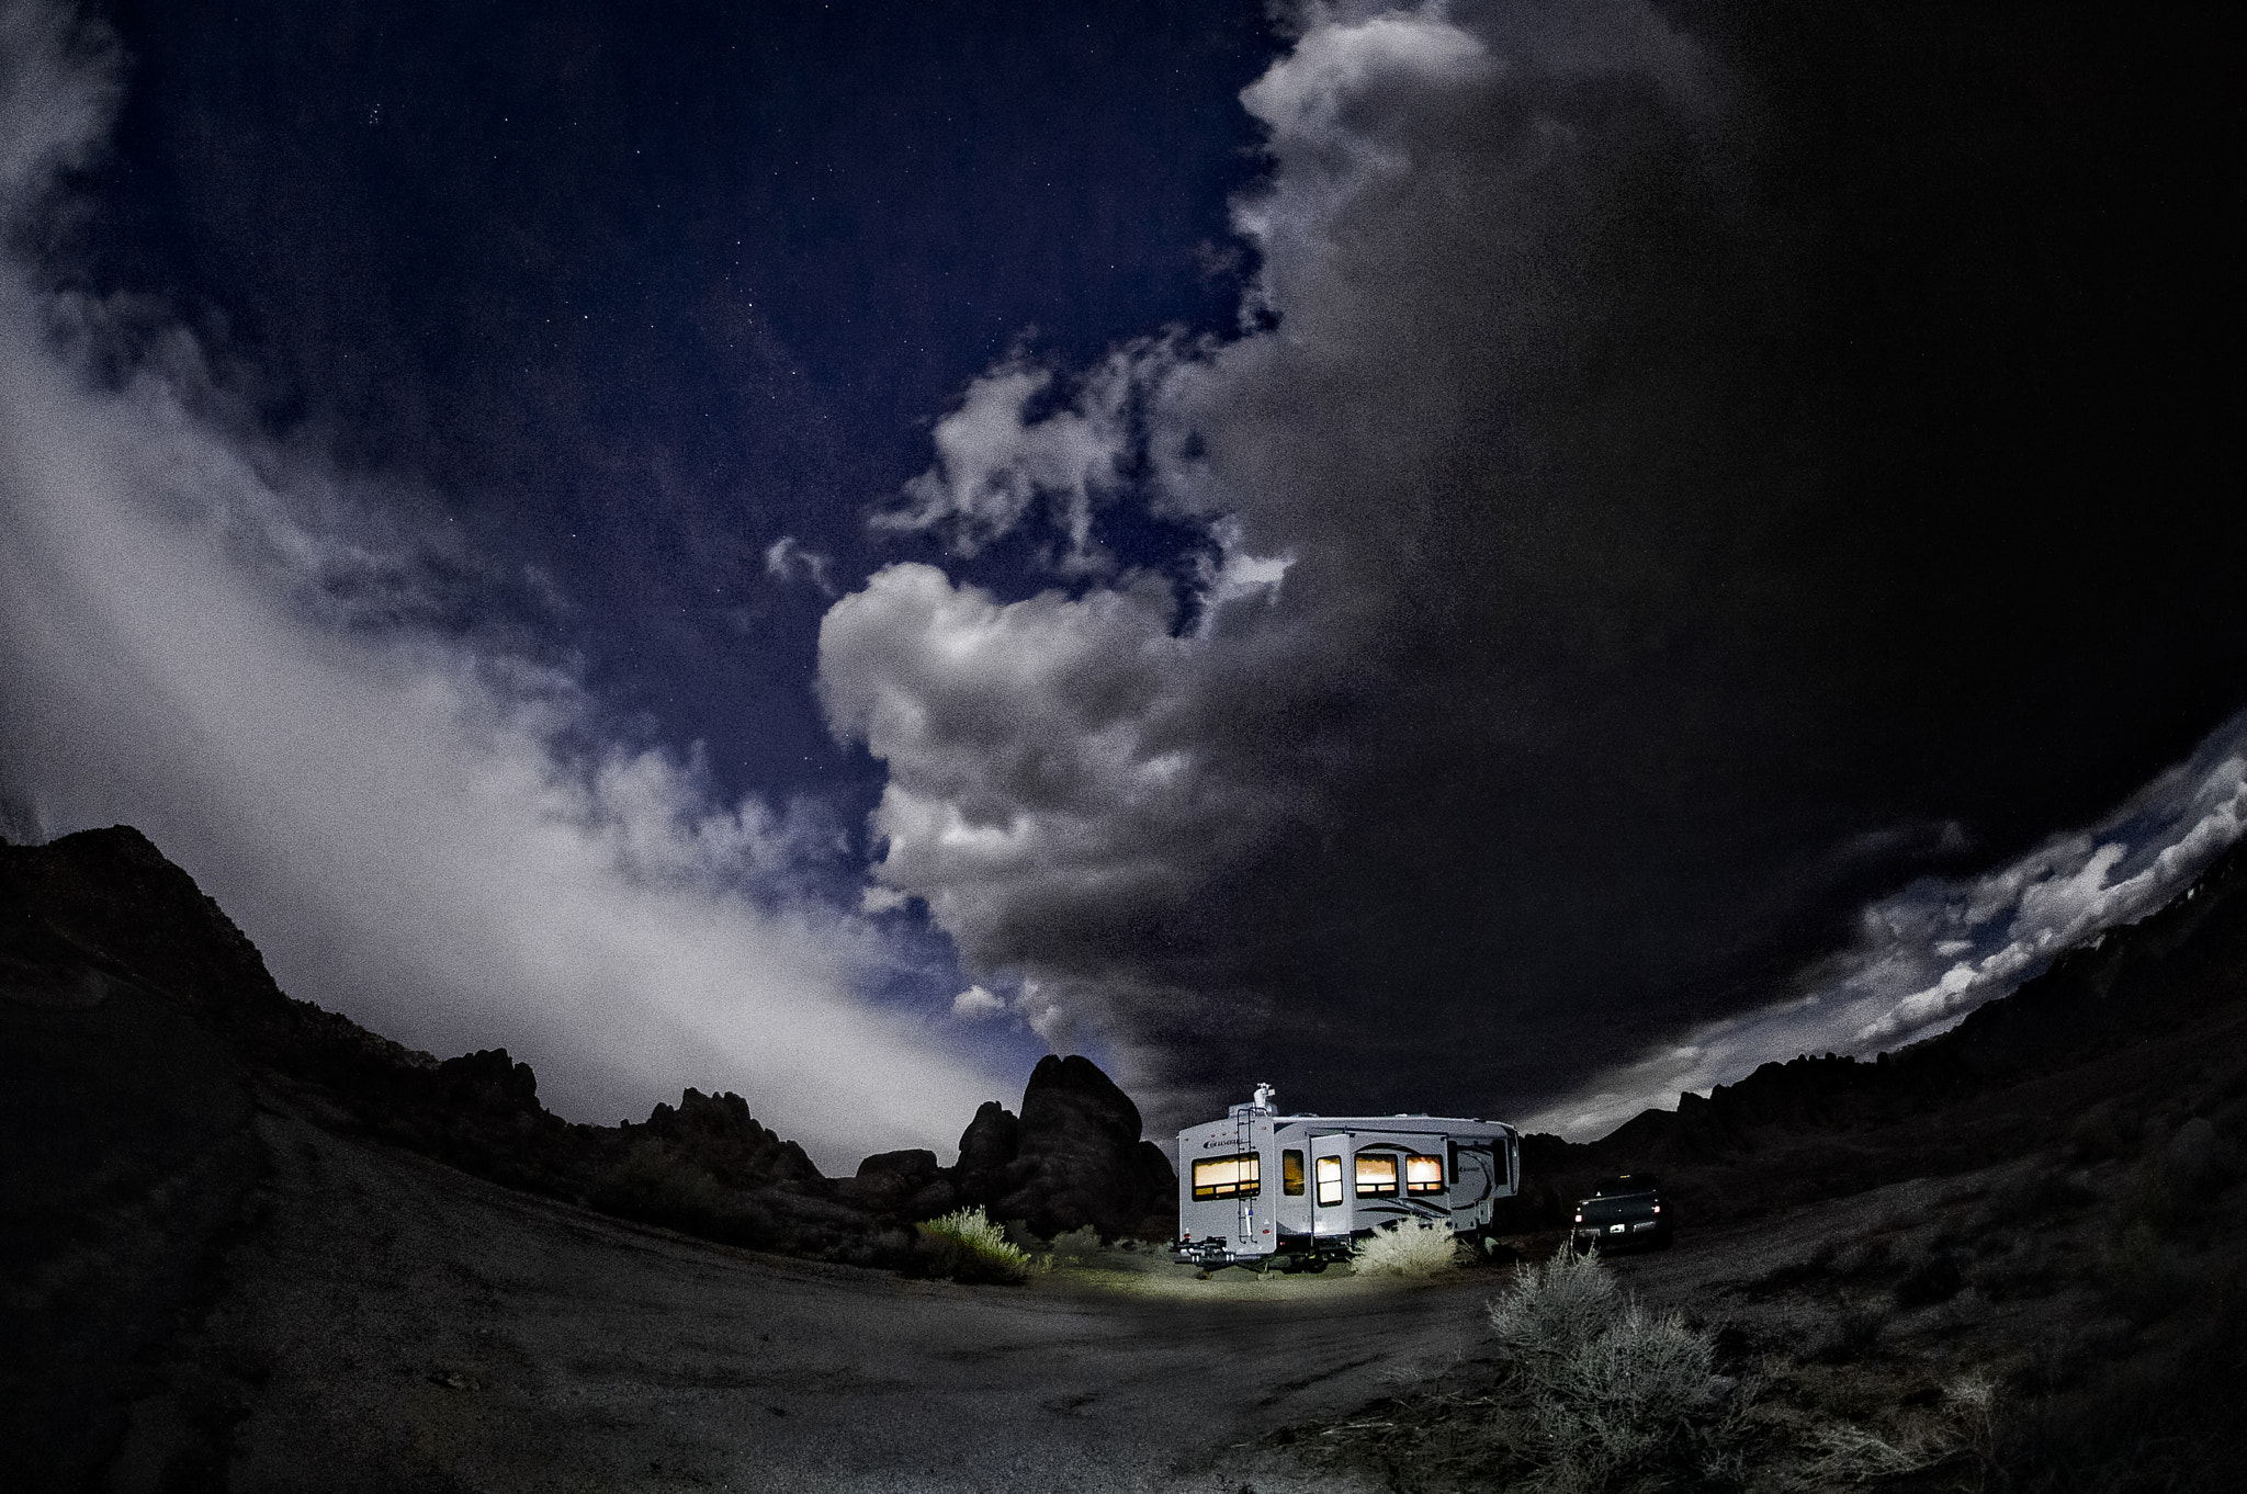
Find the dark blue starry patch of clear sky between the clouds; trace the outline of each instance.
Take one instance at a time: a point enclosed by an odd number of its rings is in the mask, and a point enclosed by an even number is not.
[[[735,791],[863,811],[811,584],[1025,344],[1225,330],[1256,4],[124,4],[92,279],[256,371],[274,429],[425,481],[568,598],[618,710]],[[1162,544],[1157,535],[1153,544]],[[1020,593],[1004,553],[975,577]],[[490,600],[485,602],[490,604]]]

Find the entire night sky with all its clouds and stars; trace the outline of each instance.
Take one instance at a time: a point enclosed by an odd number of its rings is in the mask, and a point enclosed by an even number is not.
[[[7,833],[564,1114],[1595,1135],[2247,818],[2213,18],[0,16]]]

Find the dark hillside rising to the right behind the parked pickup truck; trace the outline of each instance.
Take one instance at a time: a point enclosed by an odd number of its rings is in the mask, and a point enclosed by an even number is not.
[[[1766,1063],[1591,1144],[1528,1137],[1523,1170],[1539,1224],[1591,1177],[1634,1168],[1663,1173],[1687,1222],[1714,1222],[1968,1173],[2148,1117],[2236,1126],[2243,1096],[2247,847],[2234,847],[2164,910],[2060,955],[1939,1038],[1872,1063]]]

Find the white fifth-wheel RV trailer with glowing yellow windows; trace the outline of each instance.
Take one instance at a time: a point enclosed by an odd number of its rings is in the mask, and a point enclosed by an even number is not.
[[[1272,1085],[1222,1121],[1177,1132],[1175,1260],[1326,1269],[1395,1220],[1490,1227],[1521,1188],[1521,1139],[1503,1121],[1443,1114],[1279,1114]]]

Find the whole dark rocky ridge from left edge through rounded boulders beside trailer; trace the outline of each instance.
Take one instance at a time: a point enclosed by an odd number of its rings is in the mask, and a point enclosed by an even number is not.
[[[49,1018],[56,1042],[72,1022],[108,1031],[130,993],[135,1022],[184,1020],[245,1083],[330,1130],[715,1240],[910,1272],[926,1263],[906,1224],[964,1202],[1040,1233],[1168,1233],[1175,1222],[1168,1162],[1139,1139],[1137,1105],[1085,1058],[1045,1058],[1020,1121],[986,1103],[953,1168],[903,1150],[867,1157],[856,1177],[822,1177],[737,1094],[688,1090],[645,1123],[564,1121],[506,1049],[438,1063],[285,995],[218,903],[130,827],[0,842],[0,984],[11,1011],[103,1011]],[[137,1105],[162,1126],[164,1096],[119,1105],[126,1121]]]

